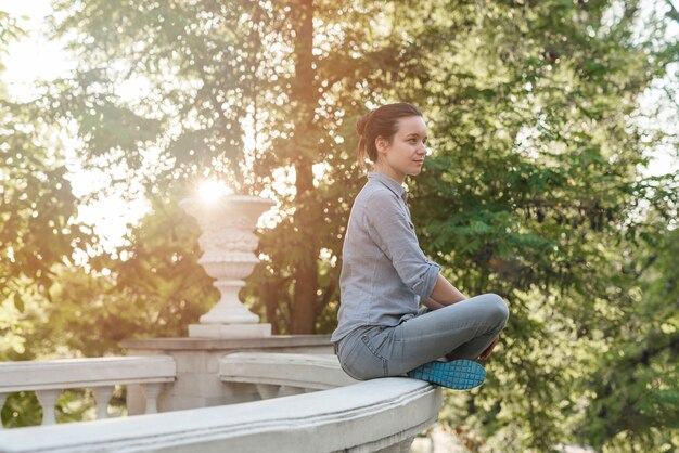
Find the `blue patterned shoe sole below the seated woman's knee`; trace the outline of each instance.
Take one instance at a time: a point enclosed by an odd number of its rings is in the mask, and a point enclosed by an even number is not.
[[[451,360],[450,362],[428,362],[409,371],[409,377],[448,387],[467,390],[478,387],[486,378],[486,370],[473,360]]]

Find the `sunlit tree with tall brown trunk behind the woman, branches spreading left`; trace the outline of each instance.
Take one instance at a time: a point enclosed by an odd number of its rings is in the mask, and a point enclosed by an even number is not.
[[[412,86],[425,74],[417,35],[403,33],[415,14],[399,2],[57,1],[55,8],[56,35],[72,37],[71,49],[87,59],[51,87],[50,104],[62,121],[79,125],[87,160],[107,156],[105,165],[140,171],[154,148],[166,169],[152,172],[148,193],[165,199],[204,177],[274,193],[276,172],[294,174],[294,187],[277,194],[281,221],[262,232],[260,246],[269,257],[262,272],[281,285],[254,296],[268,301],[278,332],[315,332],[337,287],[334,276],[319,286],[321,250],[336,259],[359,183],[344,140],[366,102],[396,94],[398,79]],[[424,33],[423,20],[415,22],[413,33]],[[131,82],[143,83],[143,95],[121,95]],[[244,155],[247,134],[255,145]],[[324,183],[315,168],[325,169]],[[253,288],[266,286],[264,275],[253,277]]]

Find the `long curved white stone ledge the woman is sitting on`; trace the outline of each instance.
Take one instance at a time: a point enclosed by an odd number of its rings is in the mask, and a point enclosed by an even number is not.
[[[440,389],[384,378],[244,404],[0,431],[0,451],[370,452],[434,423]]]

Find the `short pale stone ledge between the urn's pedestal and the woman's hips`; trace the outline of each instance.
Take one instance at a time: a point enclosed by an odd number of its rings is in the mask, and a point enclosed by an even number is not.
[[[358,380],[348,376],[335,355],[236,352],[219,361],[222,381],[267,384],[325,390]]]

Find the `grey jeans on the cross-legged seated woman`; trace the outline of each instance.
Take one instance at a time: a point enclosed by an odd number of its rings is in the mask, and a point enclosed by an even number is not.
[[[355,379],[400,376],[424,363],[476,359],[504,328],[509,309],[484,294],[438,310],[422,310],[396,326],[362,326],[342,338],[337,357]]]

